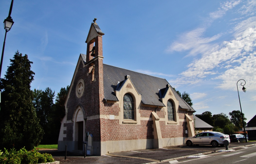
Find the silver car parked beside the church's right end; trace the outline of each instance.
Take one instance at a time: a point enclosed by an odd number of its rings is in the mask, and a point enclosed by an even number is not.
[[[193,144],[197,145],[212,145],[217,147],[218,145],[224,145],[223,141],[228,140],[230,143],[229,135],[223,134],[216,131],[206,131],[199,133],[193,137],[188,137],[185,139],[184,144],[192,146]]]

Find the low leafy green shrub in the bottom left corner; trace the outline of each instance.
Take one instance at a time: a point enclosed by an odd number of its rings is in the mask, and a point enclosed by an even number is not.
[[[34,149],[27,151],[25,148],[16,151],[14,148],[5,152],[0,150],[0,164],[36,164],[36,163],[47,163],[54,162],[52,155],[44,153],[41,154]]]

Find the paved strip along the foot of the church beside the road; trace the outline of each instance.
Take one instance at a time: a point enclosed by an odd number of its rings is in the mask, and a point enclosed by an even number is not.
[[[249,145],[256,145],[256,142],[240,142],[230,143],[229,149],[237,147],[244,147]],[[174,159],[186,158],[191,155],[204,155],[213,154],[219,150],[225,149],[225,147],[218,146],[217,148],[211,145],[193,145],[188,147],[187,145],[171,146],[162,149],[146,149],[146,150],[134,150],[126,152],[117,152],[106,154],[105,156],[83,156],[68,152],[67,160],[64,160],[65,152],[58,152],[56,150],[40,150],[40,152],[50,153],[56,161],[60,161],[60,164],[65,163],[161,163],[166,161],[172,161]]]

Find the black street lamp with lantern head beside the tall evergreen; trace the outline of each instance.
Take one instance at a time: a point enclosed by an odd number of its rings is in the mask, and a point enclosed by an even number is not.
[[[8,17],[4,20],[4,26],[5,26],[5,39],[6,39],[6,33],[11,30],[12,25],[13,25],[13,20],[11,17],[12,13],[12,6],[13,6],[13,0],[11,2],[11,7],[9,10],[9,15]],[[4,51],[5,51],[5,40],[4,40],[4,45],[3,45],[3,50],[2,50],[2,56],[1,56],[1,64],[0,64],[0,78],[1,78],[1,72],[2,72],[2,64],[3,64],[3,58],[4,58]]]

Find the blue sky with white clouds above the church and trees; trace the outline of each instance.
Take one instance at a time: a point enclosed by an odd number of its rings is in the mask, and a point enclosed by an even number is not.
[[[0,1],[0,20],[10,4]],[[190,94],[195,114],[240,110],[236,83],[244,79],[242,110],[247,122],[256,115],[256,0],[14,0],[11,16],[1,77],[19,50],[33,62],[31,89],[59,92],[97,18],[103,63],[165,78]],[[1,43],[4,34],[2,25]]]

